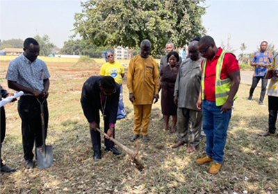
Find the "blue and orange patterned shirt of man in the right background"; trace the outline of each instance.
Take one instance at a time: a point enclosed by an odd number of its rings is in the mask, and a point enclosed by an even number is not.
[[[253,54],[252,62],[267,64],[268,61],[270,62],[270,64],[273,61],[273,56],[270,51],[265,51],[264,53],[257,51]],[[267,67],[255,67],[255,77],[265,76],[265,73],[267,71]]]

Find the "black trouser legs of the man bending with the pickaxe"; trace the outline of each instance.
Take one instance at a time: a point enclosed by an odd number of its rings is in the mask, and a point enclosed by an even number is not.
[[[105,120],[104,120],[104,132],[107,133],[107,131],[109,130],[109,112],[105,113]],[[97,114],[95,115],[95,118],[97,118],[97,121],[95,121],[97,123],[97,126],[99,127],[99,112],[97,112]],[[95,132],[93,130],[90,129],[90,134],[91,134],[91,140],[92,140],[92,150],[97,151],[97,150],[101,150],[101,139],[100,139],[100,132]],[[113,132],[113,137],[115,138],[115,130]],[[112,148],[114,147],[115,143],[113,141],[110,141],[108,139],[106,139],[104,137],[104,145],[107,148]]]

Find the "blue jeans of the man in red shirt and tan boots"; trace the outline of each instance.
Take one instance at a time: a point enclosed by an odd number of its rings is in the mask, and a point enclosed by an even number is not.
[[[227,130],[231,119],[231,110],[222,112],[222,106],[203,100],[203,130],[206,134],[206,155],[222,164]]]

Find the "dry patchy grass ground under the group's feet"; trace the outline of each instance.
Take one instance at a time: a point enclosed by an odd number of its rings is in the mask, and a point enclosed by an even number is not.
[[[3,71],[1,78],[5,76]],[[278,193],[278,139],[256,135],[268,129],[268,108],[257,105],[259,88],[249,103],[249,86],[240,85],[218,175],[208,174],[208,165],[195,164],[195,159],[204,154],[204,140],[193,154],[187,154],[185,147],[170,148],[177,141],[177,134],[163,130],[160,102],[152,109],[149,125],[152,141],[145,143],[139,153],[145,166],[140,172],[125,153],[115,156],[102,149],[102,159],[97,162],[92,159],[80,96],[83,82],[99,72],[50,69],[50,73],[47,144],[53,145],[54,165],[47,170],[24,169],[17,103],[8,105],[2,157],[17,172],[1,174],[1,193]],[[5,82],[1,80],[7,88]],[[136,143],[129,141],[133,134],[133,107],[128,100],[126,79],[124,105],[128,119],[117,121],[116,139],[135,149]]]

